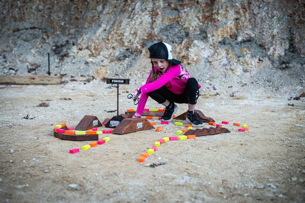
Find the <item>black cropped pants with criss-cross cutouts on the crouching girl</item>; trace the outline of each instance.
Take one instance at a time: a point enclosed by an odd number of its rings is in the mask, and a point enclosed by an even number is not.
[[[174,94],[165,86],[149,92],[148,95],[159,104],[164,103],[166,100],[178,104],[196,104],[199,97],[198,82],[193,77],[189,78],[183,93],[180,95]]]

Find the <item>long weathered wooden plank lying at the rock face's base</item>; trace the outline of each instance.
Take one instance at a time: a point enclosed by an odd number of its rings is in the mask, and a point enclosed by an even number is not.
[[[0,75],[0,84],[61,84],[62,76]]]

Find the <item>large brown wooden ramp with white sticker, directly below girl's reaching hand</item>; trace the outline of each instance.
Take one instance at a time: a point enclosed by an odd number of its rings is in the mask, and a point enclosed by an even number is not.
[[[123,119],[122,122],[112,131],[113,134],[125,134],[142,130],[154,129],[154,126],[144,118]]]

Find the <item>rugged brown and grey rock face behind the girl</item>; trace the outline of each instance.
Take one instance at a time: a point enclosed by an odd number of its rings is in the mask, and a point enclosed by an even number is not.
[[[50,53],[52,75],[145,81],[151,68],[147,48],[164,41],[199,81],[277,86],[285,78],[281,84],[304,85],[304,5],[304,0],[4,0],[0,74],[46,74]]]

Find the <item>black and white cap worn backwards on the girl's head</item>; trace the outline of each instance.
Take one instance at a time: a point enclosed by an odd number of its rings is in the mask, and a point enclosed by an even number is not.
[[[149,58],[166,59],[173,64],[181,64],[181,61],[173,59],[171,46],[165,42],[154,43],[148,50]]]

